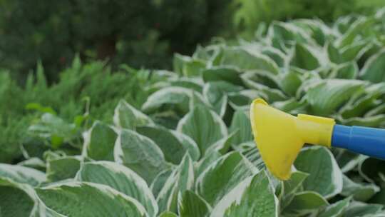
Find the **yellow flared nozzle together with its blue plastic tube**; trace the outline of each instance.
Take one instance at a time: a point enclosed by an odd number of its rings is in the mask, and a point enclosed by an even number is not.
[[[346,148],[385,159],[385,129],[343,126],[332,118],[298,114],[292,116],[255,99],[250,107],[255,142],[267,169],[277,178],[290,178],[292,164],[304,143]]]

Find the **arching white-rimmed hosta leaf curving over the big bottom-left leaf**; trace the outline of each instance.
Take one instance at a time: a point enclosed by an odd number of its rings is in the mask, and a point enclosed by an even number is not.
[[[135,198],[143,205],[149,216],[156,216],[158,204],[147,183],[129,168],[110,161],[84,163],[76,180],[110,186],[120,193]]]

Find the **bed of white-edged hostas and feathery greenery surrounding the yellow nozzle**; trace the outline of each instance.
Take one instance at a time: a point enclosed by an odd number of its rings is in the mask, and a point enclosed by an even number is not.
[[[307,146],[292,177],[279,181],[265,169],[247,114],[261,97],[293,114],[384,127],[384,14],[331,26],[274,22],[262,38],[175,55],[175,73],[111,73],[75,61],[53,86],[40,66],[25,88],[2,77],[0,99],[18,97],[0,104],[12,117],[3,121],[29,119],[14,129],[26,137],[15,137],[20,149],[4,148],[23,156],[0,164],[0,196],[9,198],[0,214],[384,216],[384,161]],[[28,103],[37,111],[18,107]]]

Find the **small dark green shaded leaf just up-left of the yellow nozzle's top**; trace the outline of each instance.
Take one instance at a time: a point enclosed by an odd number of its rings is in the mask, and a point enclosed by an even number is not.
[[[203,81],[226,81],[230,84],[242,85],[240,71],[232,67],[212,67],[202,71]]]

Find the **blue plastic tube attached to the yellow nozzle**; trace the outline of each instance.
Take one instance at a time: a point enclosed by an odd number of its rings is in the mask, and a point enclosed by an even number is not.
[[[332,146],[385,160],[385,129],[336,124]]]

